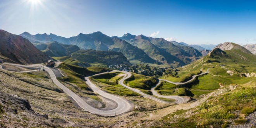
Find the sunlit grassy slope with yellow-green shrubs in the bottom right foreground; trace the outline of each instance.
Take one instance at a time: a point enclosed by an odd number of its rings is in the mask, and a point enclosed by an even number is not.
[[[179,110],[168,114],[162,121],[165,127],[184,128],[226,128],[234,124],[247,122],[248,114],[256,110],[255,81],[239,85],[235,90],[226,89],[218,96],[208,98],[208,102],[192,110]],[[190,116],[185,118],[187,111]],[[179,118],[173,118],[178,116]]]

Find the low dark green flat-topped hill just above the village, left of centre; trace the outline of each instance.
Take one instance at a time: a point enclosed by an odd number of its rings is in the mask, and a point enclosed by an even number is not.
[[[72,58],[81,62],[100,63],[104,65],[127,64],[131,65],[121,52],[97,51],[97,50],[78,50],[72,54]]]

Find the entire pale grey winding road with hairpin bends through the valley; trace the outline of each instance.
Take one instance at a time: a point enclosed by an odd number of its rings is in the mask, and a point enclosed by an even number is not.
[[[9,63],[10,64],[10,63]],[[33,65],[29,65],[29,66],[24,66],[24,65],[20,65],[20,64],[10,64],[10,65],[15,65],[15,66],[23,66],[23,67],[38,67],[40,68],[40,66],[42,67],[43,65],[42,64],[33,64]],[[0,65],[0,67],[2,67]],[[2,68],[1,68],[2,69]],[[132,106],[131,104],[121,98],[121,97],[118,97],[118,96],[115,96],[115,95],[111,95],[107,92],[104,92],[102,90],[100,90],[100,88],[96,85],[94,85],[89,77],[91,76],[88,76],[88,77],[85,77],[85,80],[86,80],[86,84],[88,86],[90,86],[90,88],[92,88],[92,90],[96,93],[98,93],[99,95],[101,95],[102,97],[105,97],[107,99],[111,99],[113,100],[114,102],[116,102],[118,104],[118,106],[112,110],[100,110],[100,109],[97,109],[97,108],[94,108],[92,106],[90,106],[89,104],[87,104],[80,96],[78,96],[76,93],[74,93],[73,91],[69,90],[69,88],[67,88],[66,86],[64,86],[61,82],[59,82],[54,74],[54,72],[48,68],[48,67],[44,67],[45,71],[47,71],[50,75],[50,78],[52,79],[52,81],[54,82],[55,85],[57,85],[59,88],[61,88],[67,95],[69,95],[70,97],[72,97],[76,103],[82,108],[84,109],[85,111],[88,111],[88,112],[91,112],[93,114],[97,114],[97,115],[100,115],[100,116],[116,116],[116,115],[119,115],[119,114],[123,114],[125,112],[128,112],[132,109]],[[38,70],[31,70],[31,71],[38,71]],[[17,72],[17,73],[26,73],[26,72],[31,72],[31,71],[21,71],[21,72]],[[127,71],[117,71],[117,70],[113,70],[111,72],[122,72],[125,74],[125,77],[123,77],[121,80],[118,81],[118,83],[125,87],[125,88],[128,88],[129,90],[133,91],[133,92],[136,92],[136,93],[139,93],[140,95],[148,98],[148,99],[151,99],[151,100],[155,100],[157,102],[161,102],[161,103],[171,103],[171,102],[166,102],[166,101],[163,101],[163,100],[160,100],[156,97],[153,97],[152,95],[148,95],[148,94],[145,94],[143,92],[141,92],[140,90],[136,89],[136,88],[131,88],[127,85],[124,84],[124,81],[128,78],[131,77],[131,73],[127,72]],[[105,73],[111,73],[111,72],[105,72]],[[152,87],[151,88],[151,92],[153,93],[153,95],[157,96],[157,97],[163,97],[163,98],[168,98],[168,99],[175,99],[176,100],[176,104],[182,104],[184,102],[184,99],[183,97],[180,97],[180,96],[176,96],[176,95],[160,95],[159,93],[157,93],[155,91],[155,88],[160,85],[161,81],[166,81],[166,82],[169,82],[169,83],[172,83],[172,84],[176,84],[176,85],[180,85],[180,84],[185,84],[185,83],[189,83],[190,81],[194,80],[197,76],[201,76],[203,74],[206,74],[209,72],[209,69],[207,69],[207,71],[205,73],[201,73],[201,74],[197,74],[197,75],[194,75],[192,76],[192,79],[189,80],[189,81],[186,81],[186,82],[183,82],[183,83],[180,83],[180,82],[172,82],[172,81],[168,81],[168,80],[163,80],[163,79],[159,79],[159,82],[157,83],[156,86]],[[100,75],[100,74],[105,74],[105,73],[99,73],[99,74],[95,74],[93,76],[96,76],[96,75]],[[173,103],[173,102],[172,102]]]

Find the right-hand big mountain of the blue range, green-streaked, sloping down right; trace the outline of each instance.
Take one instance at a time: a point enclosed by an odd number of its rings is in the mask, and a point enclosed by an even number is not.
[[[163,38],[152,38],[144,35],[135,36],[130,33],[120,38],[144,50],[153,59],[165,64],[178,62],[180,65],[185,65],[202,56],[195,48],[178,42],[168,42]]]

